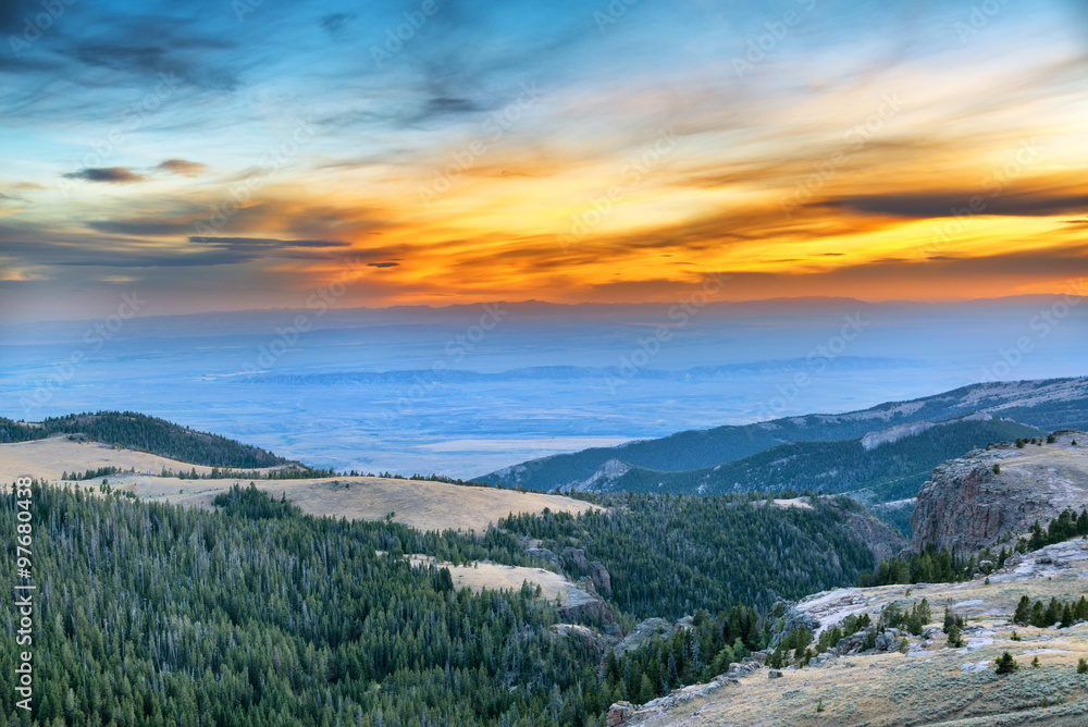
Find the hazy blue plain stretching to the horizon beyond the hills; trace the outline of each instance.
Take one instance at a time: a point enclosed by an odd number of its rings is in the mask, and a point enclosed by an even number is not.
[[[775,300],[691,313],[527,303],[497,304],[491,318],[455,306],[8,324],[0,415],[133,409],[314,466],[472,477],[684,429],[1083,375],[1088,306],[1066,306],[1042,335],[1055,301],[821,298],[800,315]]]

